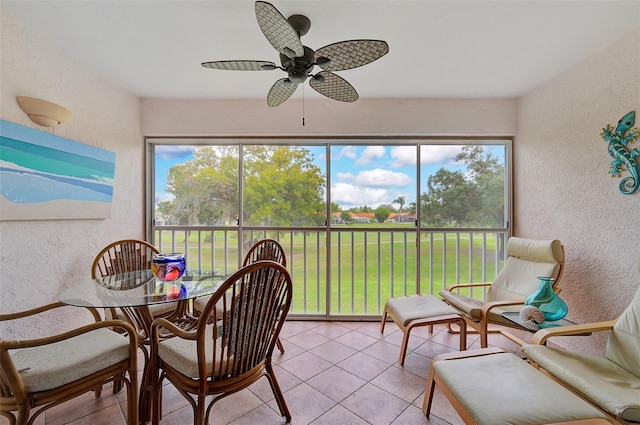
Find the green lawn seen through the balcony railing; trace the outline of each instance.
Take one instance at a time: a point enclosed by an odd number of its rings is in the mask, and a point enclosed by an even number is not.
[[[330,255],[326,232],[260,232],[254,239],[274,238],[284,246],[294,284],[292,315],[379,315],[390,297],[491,281],[502,267],[496,255],[500,233],[423,232],[419,244],[416,235],[415,228],[397,226],[342,228],[331,233]],[[185,253],[189,268],[228,274],[242,260],[236,229],[163,231],[156,241],[163,252]],[[251,246],[250,239],[245,245]]]

